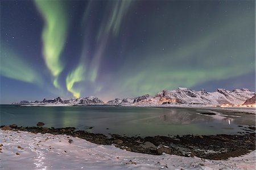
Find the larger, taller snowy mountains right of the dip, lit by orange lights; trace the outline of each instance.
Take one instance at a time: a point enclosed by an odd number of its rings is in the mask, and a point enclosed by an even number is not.
[[[125,98],[119,104],[121,106],[139,106],[139,105],[165,105],[165,104],[188,104],[188,105],[242,105],[246,99],[255,95],[249,89],[236,89],[229,91],[226,89],[217,89],[216,92],[206,92],[204,89],[200,91],[188,88],[178,88],[176,90],[163,90],[155,96],[148,94],[135,97]],[[118,99],[118,101],[120,101]],[[113,105],[113,101],[109,101],[107,105]]]

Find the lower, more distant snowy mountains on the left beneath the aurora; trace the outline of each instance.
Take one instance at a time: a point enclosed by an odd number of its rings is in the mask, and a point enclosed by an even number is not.
[[[103,105],[104,102],[97,97],[82,97],[77,99],[64,99],[61,97],[46,99],[39,101],[20,101],[12,103],[12,105]]]

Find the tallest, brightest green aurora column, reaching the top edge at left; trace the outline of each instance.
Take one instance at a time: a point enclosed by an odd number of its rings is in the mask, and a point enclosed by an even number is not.
[[[35,5],[45,22],[42,33],[44,60],[55,78],[53,80],[54,86],[60,88],[57,77],[64,69],[60,57],[65,47],[69,26],[67,7],[65,2],[61,1],[35,0]]]

